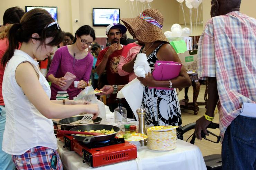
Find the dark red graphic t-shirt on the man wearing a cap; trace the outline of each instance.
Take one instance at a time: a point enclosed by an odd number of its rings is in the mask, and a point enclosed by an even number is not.
[[[101,60],[103,59],[105,53],[107,52],[109,47],[104,48],[103,50],[100,51],[98,55],[97,62],[95,64],[95,67],[99,65]],[[121,58],[121,54],[123,51],[124,47],[121,50],[117,50],[113,52],[109,58],[108,62],[106,65],[106,70],[107,70],[107,78],[108,78],[108,83],[109,85],[123,85],[127,84],[129,80],[129,76],[119,76],[118,71],[117,71],[117,66]],[[110,98],[108,99],[108,103],[115,103],[117,95],[116,94],[110,94]]]

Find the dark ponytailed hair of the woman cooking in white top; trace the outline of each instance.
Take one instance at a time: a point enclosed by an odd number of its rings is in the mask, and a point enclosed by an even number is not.
[[[9,46],[1,60],[2,65],[5,66],[12,58],[14,50],[19,47],[19,42],[28,42],[33,33],[39,34],[40,38],[33,39],[40,40],[43,46],[60,44],[64,38],[61,28],[58,28],[57,24],[48,27],[54,21],[51,14],[42,8],[35,8],[25,13],[20,23],[13,24],[9,30]],[[53,40],[45,44],[45,39],[48,37],[53,37]]]

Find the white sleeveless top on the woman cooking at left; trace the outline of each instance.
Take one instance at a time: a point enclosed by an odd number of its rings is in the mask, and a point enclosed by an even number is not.
[[[41,86],[47,96],[51,97],[50,86],[39,71],[38,62],[27,53],[15,50],[4,70],[2,84],[3,100],[6,107],[2,150],[12,155],[21,155],[36,146],[57,149],[52,120],[47,119],[35,108],[16,82],[15,70],[24,61],[33,64],[39,73]],[[40,99],[38,98],[38,100]]]

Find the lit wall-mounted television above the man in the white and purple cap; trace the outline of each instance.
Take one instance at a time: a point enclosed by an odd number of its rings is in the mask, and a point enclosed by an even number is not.
[[[93,26],[107,27],[111,23],[119,23],[120,9],[117,8],[93,8],[92,24]]]

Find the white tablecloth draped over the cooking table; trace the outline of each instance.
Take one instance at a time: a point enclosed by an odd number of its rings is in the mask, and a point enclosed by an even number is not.
[[[66,170],[206,170],[200,149],[188,142],[177,140],[177,148],[172,151],[154,151],[146,147],[137,151],[137,159],[92,168],[82,162],[74,151],[63,148],[58,140],[58,152]]]

